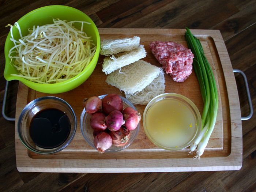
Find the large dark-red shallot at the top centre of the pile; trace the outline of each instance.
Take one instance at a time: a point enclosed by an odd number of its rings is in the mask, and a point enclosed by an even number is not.
[[[121,97],[115,93],[108,94],[102,99],[102,110],[106,115],[111,113],[113,110],[122,112],[123,106]]]

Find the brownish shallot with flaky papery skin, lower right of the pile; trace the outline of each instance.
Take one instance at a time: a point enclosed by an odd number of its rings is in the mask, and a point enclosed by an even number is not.
[[[126,129],[124,126],[122,126],[117,131],[109,131],[109,135],[112,138],[112,142],[114,146],[120,147],[125,145],[128,140],[130,139],[131,133],[129,129]]]

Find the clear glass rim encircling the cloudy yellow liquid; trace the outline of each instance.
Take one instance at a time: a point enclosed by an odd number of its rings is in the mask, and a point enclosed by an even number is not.
[[[162,146],[161,144],[157,143],[153,138],[151,138],[151,136],[149,135],[148,131],[147,131],[147,128],[146,128],[146,114],[148,112],[148,109],[154,104],[154,103],[157,103],[158,101],[162,100],[162,99],[165,99],[166,97],[172,97],[172,98],[179,98],[179,99],[182,99],[182,103],[185,103],[187,105],[189,105],[194,111],[194,115],[195,117],[197,118],[198,120],[198,123],[197,123],[197,127],[196,127],[196,132],[195,134],[193,135],[193,139],[191,139],[189,142],[187,143],[184,143],[183,145],[181,146],[178,146],[177,148],[176,147],[165,147],[165,146]],[[185,101],[185,102],[184,102]],[[197,138],[197,136],[199,135],[200,133],[200,128],[201,128],[201,125],[202,124],[202,119],[201,119],[201,115],[200,115],[200,112],[197,108],[197,106],[195,105],[195,103],[193,103],[189,98],[185,97],[184,95],[181,95],[181,94],[177,94],[177,93],[163,93],[163,94],[160,94],[160,95],[157,95],[156,97],[154,97],[153,99],[151,99],[150,102],[148,102],[146,108],[144,109],[144,112],[143,112],[143,129],[144,129],[144,132],[146,133],[147,135],[147,138],[153,143],[155,144],[157,147],[160,147],[162,149],[165,149],[165,150],[169,150],[169,151],[178,151],[178,150],[182,150],[184,148],[187,148],[188,146],[190,146]]]

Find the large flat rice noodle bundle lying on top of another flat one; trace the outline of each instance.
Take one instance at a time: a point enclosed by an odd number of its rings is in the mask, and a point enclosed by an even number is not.
[[[106,82],[125,94],[134,94],[153,82],[160,70],[159,67],[139,60],[109,74]]]

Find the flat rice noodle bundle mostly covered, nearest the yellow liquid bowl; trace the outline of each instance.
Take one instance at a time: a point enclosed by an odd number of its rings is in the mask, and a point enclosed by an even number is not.
[[[125,94],[125,97],[134,105],[147,105],[151,99],[165,92],[165,76],[161,69],[157,78],[153,80],[145,89],[135,94]]]

